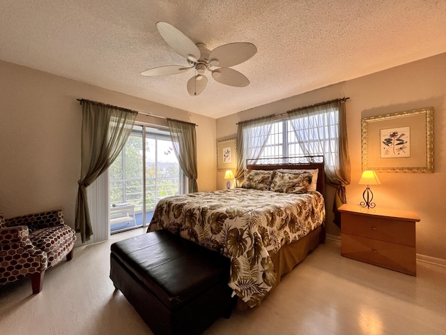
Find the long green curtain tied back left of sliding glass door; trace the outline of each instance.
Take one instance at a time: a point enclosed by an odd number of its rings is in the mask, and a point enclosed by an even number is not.
[[[82,243],[93,234],[86,188],[114,162],[132,132],[137,112],[82,100],[81,178],[76,200],[76,232]]]

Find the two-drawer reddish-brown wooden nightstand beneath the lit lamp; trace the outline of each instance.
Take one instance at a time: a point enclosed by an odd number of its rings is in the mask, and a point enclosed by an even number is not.
[[[415,211],[367,209],[343,204],[341,212],[341,255],[417,275]]]

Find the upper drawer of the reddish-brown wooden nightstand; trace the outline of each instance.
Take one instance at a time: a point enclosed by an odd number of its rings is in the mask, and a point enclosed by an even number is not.
[[[342,232],[415,247],[415,222],[342,213]]]

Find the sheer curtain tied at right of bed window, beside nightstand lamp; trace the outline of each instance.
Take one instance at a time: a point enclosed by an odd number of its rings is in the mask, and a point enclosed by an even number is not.
[[[337,209],[347,202],[345,186],[350,184],[351,173],[345,101],[337,99],[287,113],[304,154],[324,156],[326,179],[336,188],[333,222],[341,227],[341,215]]]

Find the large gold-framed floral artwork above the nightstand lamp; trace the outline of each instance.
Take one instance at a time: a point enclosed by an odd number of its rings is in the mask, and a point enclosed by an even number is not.
[[[362,170],[433,172],[433,107],[362,119]]]

